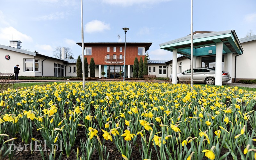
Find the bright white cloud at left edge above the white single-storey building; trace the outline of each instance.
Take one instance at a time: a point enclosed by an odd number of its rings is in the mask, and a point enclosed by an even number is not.
[[[23,34],[16,30],[13,27],[6,27],[6,28],[0,28],[0,39],[8,41],[8,40],[20,40],[22,41],[27,41],[27,42],[32,42],[33,39],[32,37]]]

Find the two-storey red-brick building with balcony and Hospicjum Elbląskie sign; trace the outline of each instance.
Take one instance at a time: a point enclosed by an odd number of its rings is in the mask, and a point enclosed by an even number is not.
[[[82,43],[77,43],[82,46]],[[152,43],[126,43],[125,51],[125,77],[133,76],[133,63],[135,57],[144,60],[145,53]],[[84,43],[84,57],[90,65],[94,59],[96,70],[95,76],[101,77],[105,72],[107,78],[119,78],[124,69],[124,43]]]

